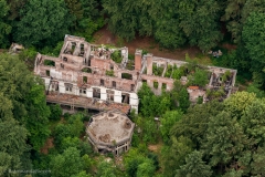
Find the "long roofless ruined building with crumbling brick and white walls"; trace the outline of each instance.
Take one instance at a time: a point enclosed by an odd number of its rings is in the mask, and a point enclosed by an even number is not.
[[[170,91],[174,79],[172,72],[186,65],[183,61],[142,54],[137,50],[135,59],[128,59],[127,48],[91,44],[84,38],[65,35],[57,58],[38,53],[34,73],[45,82],[46,101],[61,105],[98,111],[138,111],[137,91],[147,83],[156,94]],[[209,100],[206,90],[220,90],[231,94],[236,70],[206,66],[209,84],[204,88],[188,87],[190,101]],[[229,72],[229,74],[227,74]],[[226,74],[225,81],[223,76]],[[186,75],[180,79],[188,82]],[[209,94],[210,95],[210,94]]]

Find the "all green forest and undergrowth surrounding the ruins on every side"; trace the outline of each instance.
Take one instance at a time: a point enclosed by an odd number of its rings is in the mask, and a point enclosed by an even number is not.
[[[0,176],[265,176],[264,24],[265,0],[0,0],[0,48],[26,48],[0,54]],[[137,125],[130,150],[120,158],[94,153],[84,126],[91,113],[62,115],[46,105],[31,69],[36,51],[56,55],[65,34],[93,41],[104,25],[169,50],[205,54],[227,42],[236,48],[213,61],[251,84],[224,102],[197,105],[177,81],[160,96],[144,84],[139,114],[129,115]]]

